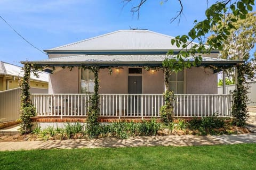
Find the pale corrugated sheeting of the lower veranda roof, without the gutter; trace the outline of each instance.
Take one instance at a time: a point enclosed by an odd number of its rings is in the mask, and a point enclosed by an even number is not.
[[[173,56],[169,56],[172,58]],[[50,58],[47,60],[35,61],[35,63],[120,63],[120,62],[163,62],[166,55],[77,55],[69,57]],[[194,61],[194,57],[186,60]],[[202,62],[234,62],[222,58],[202,57]]]

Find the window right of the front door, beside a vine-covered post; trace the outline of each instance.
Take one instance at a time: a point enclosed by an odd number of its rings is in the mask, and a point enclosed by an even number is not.
[[[170,89],[174,91],[174,94],[183,94],[184,87],[184,71],[178,73],[172,73],[169,79]]]

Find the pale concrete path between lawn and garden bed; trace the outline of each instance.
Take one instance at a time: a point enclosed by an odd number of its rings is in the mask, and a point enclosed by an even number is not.
[[[135,137],[129,139],[102,138],[51,141],[0,142],[0,151],[30,149],[71,149],[104,147],[139,147],[139,146],[202,146],[233,145],[238,143],[256,143],[256,134],[197,136],[168,135],[156,137]]]

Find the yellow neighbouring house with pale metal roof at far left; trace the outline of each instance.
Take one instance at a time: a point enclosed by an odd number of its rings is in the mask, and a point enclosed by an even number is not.
[[[23,77],[22,67],[0,61],[0,91],[19,87]],[[39,78],[31,75],[30,87],[48,89],[48,73],[38,72]]]

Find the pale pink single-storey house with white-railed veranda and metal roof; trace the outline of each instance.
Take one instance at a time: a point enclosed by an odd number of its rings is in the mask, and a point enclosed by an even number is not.
[[[79,66],[101,68],[101,117],[159,117],[159,109],[164,105],[165,81],[164,72],[154,68],[162,67],[170,49],[174,54],[181,49],[171,45],[172,39],[149,30],[118,30],[44,50],[49,56],[47,60],[22,62],[43,66],[48,71],[55,67],[49,76],[49,94],[31,95],[38,119],[86,117],[94,74]],[[232,96],[218,95],[217,72],[241,61],[223,60],[218,54],[214,50],[203,56],[200,66],[170,75],[170,87],[176,97],[174,116],[230,116]],[[74,67],[70,71],[68,66]],[[107,69],[109,66],[112,74]],[[208,66],[221,69],[213,70]]]

